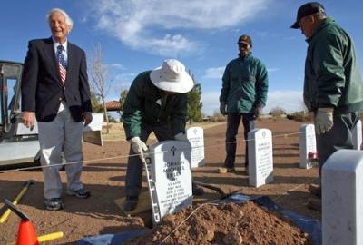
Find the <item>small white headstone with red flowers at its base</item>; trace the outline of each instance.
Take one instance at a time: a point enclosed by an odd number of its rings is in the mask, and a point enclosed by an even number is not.
[[[313,167],[313,164],[317,163],[317,160],[311,159],[312,155],[317,155],[317,141],[315,138],[314,124],[302,124],[300,126],[299,150],[300,168],[309,169]]]

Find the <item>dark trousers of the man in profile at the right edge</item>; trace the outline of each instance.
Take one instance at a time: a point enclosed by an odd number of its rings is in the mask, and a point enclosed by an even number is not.
[[[329,132],[317,134],[319,175],[329,156],[340,149],[353,149],[352,131],[359,120],[359,113],[333,115],[333,127]]]

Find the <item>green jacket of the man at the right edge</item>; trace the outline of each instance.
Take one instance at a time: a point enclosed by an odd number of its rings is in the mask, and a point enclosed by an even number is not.
[[[333,107],[335,113],[363,108],[363,86],[350,36],[328,17],[307,39],[304,102],[309,111]]]

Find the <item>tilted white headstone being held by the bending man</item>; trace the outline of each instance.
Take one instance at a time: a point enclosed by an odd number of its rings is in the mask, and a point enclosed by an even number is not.
[[[158,206],[158,209],[152,211],[159,211],[158,216],[162,219],[192,204],[191,145],[187,142],[165,141],[153,144],[149,150],[156,192],[152,201]]]

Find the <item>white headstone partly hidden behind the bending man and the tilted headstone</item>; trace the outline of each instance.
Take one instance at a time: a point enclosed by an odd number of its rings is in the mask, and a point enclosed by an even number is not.
[[[204,165],[204,132],[201,127],[187,129],[187,138],[191,142],[191,168]]]

